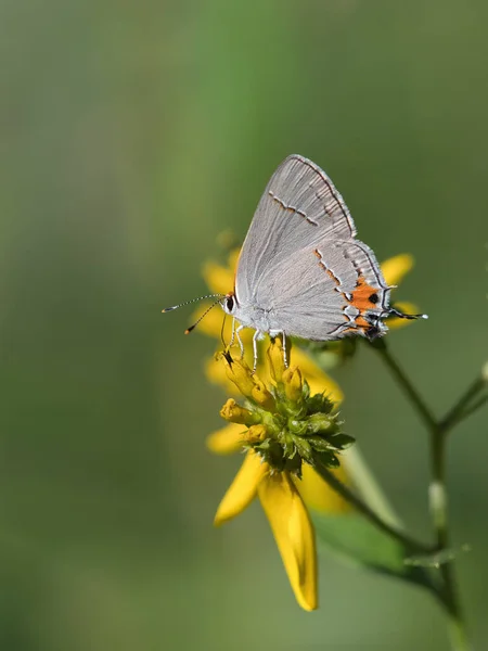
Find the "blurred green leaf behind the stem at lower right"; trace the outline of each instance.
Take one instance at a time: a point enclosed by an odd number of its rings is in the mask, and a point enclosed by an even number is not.
[[[412,552],[359,513],[312,513],[317,537],[343,560],[435,589],[425,567],[409,563]]]

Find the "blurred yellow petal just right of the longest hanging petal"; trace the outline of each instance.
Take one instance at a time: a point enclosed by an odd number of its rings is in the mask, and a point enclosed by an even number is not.
[[[331,470],[343,484],[348,484],[349,480],[343,465],[337,470]],[[352,511],[351,505],[346,501],[338,493],[329,486],[322,477],[308,463],[301,467],[301,480],[295,481],[307,507],[321,511],[322,513],[331,513],[333,515],[348,513]]]

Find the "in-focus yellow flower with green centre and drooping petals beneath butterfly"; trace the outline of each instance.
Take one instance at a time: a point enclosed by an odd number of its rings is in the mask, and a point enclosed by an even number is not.
[[[217,454],[247,452],[217,509],[215,524],[239,515],[258,497],[295,597],[311,611],[318,605],[317,551],[304,496],[321,510],[341,513],[350,508],[312,465],[337,468],[336,454],[352,439],[339,432],[334,404],[312,395],[297,367],[284,368],[282,355],[277,339],[267,355],[274,380],[270,388],[245,361],[233,360],[229,353],[220,356],[224,374],[247,400],[245,407],[233,398],[226,403],[220,413],[230,424],[211,434],[207,445]]]

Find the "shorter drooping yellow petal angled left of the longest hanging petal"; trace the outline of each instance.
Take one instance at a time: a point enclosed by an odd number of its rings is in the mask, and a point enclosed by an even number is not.
[[[256,497],[258,484],[269,472],[267,463],[256,452],[248,451],[234,481],[217,509],[214,524],[219,526],[244,511]]]

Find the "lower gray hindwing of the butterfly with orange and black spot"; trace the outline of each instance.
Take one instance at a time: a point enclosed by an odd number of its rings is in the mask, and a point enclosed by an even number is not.
[[[371,334],[388,307],[386,285],[372,251],[358,240],[324,240],[268,269],[256,304],[271,332],[326,341],[350,332]]]

